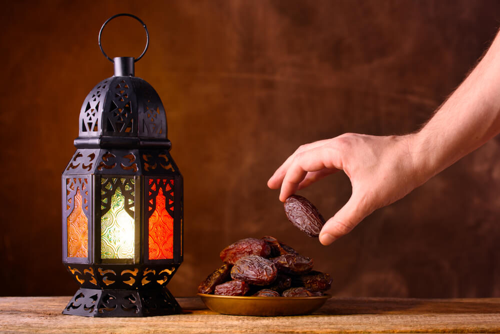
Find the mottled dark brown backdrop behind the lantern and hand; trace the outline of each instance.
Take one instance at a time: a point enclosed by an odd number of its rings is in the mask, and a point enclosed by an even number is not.
[[[60,173],[83,99],[112,75],[98,30],[121,12],[149,29],[135,73],[163,101],[184,176],[174,295],[193,295],[226,244],[273,235],[331,273],[334,295],[500,296],[497,138],[328,247],[265,185],[300,144],[416,130],[494,37],[494,0],[3,2],[0,295],[76,290],[61,264]],[[111,57],[144,41],[128,18],[103,33]],[[339,174],[300,193],[329,217],[350,184]]]

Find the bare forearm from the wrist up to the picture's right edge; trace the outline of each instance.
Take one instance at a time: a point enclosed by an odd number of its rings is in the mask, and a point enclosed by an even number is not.
[[[422,182],[500,132],[500,37],[427,124],[410,135]]]

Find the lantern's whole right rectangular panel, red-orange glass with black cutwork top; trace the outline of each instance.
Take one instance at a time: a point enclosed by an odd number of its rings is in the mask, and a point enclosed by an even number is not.
[[[149,186],[149,259],[173,258],[173,179],[152,179]]]

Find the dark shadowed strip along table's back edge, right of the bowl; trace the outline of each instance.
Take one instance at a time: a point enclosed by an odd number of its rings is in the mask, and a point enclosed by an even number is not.
[[[332,297],[314,314],[500,313],[498,298],[414,299]]]

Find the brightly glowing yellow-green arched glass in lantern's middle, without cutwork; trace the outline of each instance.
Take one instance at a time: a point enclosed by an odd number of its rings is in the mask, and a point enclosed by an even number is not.
[[[109,211],[100,219],[101,258],[133,258],[134,221],[125,211],[124,204],[125,197],[117,187]]]

